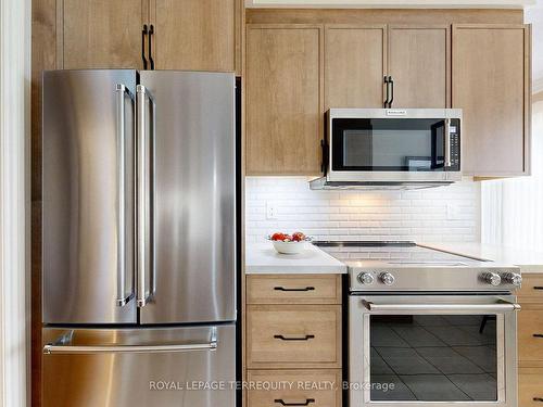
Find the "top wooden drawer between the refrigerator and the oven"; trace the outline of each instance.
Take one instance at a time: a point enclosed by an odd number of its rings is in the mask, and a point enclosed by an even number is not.
[[[249,276],[248,304],[341,304],[341,276]]]

